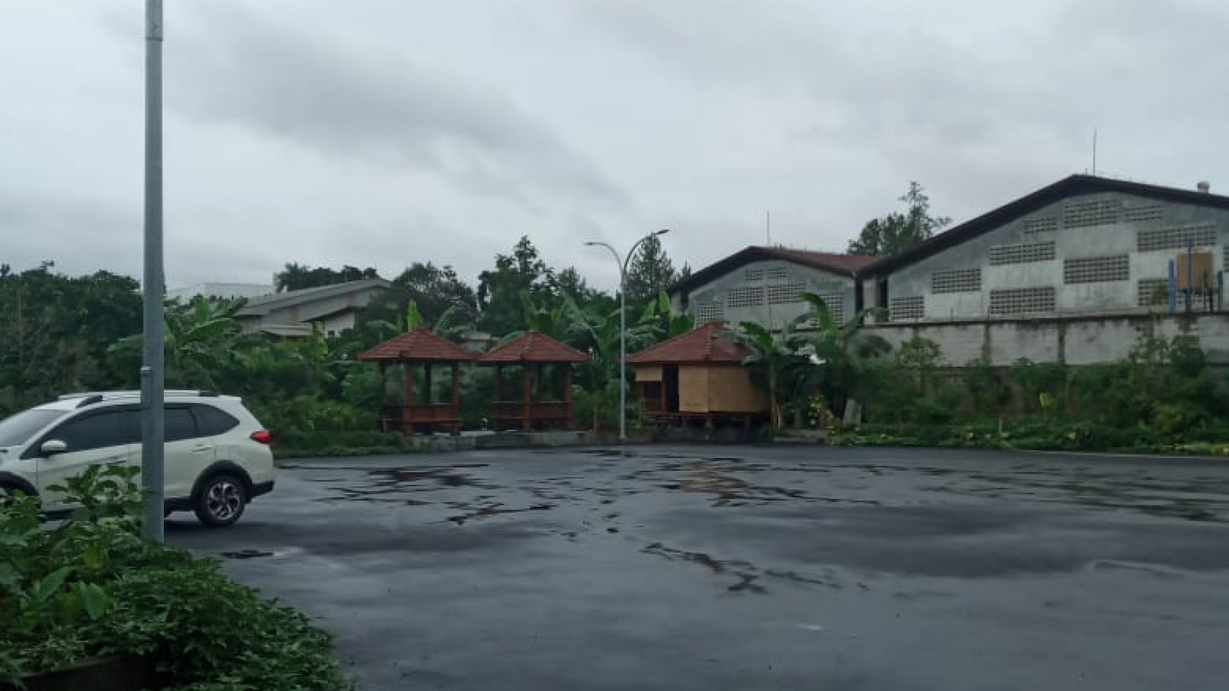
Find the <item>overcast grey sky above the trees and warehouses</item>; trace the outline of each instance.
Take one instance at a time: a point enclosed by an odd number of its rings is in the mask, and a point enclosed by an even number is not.
[[[957,222],[1091,167],[1229,191],[1223,0],[170,0],[168,284],[452,264],[611,287]],[[0,261],[140,275],[140,0],[0,0]]]

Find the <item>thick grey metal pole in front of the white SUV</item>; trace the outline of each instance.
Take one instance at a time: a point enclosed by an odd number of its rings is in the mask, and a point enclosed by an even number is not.
[[[162,0],[145,0],[145,338],[141,534],[162,541]]]

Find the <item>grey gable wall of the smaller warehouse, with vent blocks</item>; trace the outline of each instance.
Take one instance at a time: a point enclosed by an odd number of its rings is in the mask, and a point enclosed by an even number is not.
[[[780,329],[806,313],[807,304],[798,297],[801,292],[825,297],[833,312],[848,318],[855,311],[855,290],[854,280],[848,276],[791,261],[752,261],[692,290],[686,296],[686,311],[697,323],[755,322]],[[678,297],[675,308],[683,308]]]

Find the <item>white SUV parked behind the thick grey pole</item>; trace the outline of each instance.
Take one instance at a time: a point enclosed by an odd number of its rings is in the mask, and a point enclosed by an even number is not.
[[[98,464],[141,464],[139,392],[59,400],[0,420],[0,495],[38,496],[49,517],[74,507],[52,485]],[[166,392],[165,511],[230,525],[273,491],[270,436],[234,396]]]

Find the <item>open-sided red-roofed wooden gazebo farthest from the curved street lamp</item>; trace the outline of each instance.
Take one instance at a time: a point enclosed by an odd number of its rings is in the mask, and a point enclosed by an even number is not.
[[[461,363],[472,362],[474,353],[431,331],[419,326],[371,350],[359,353],[359,360],[380,363],[383,376],[391,365],[406,368],[404,405],[385,405],[380,410],[380,428],[385,432],[401,431],[406,434],[446,430],[454,434],[461,431]],[[423,392],[415,399],[414,367],[423,367]],[[431,400],[431,371],[435,366],[451,367],[451,401]],[[420,400],[419,400],[420,399]]]

